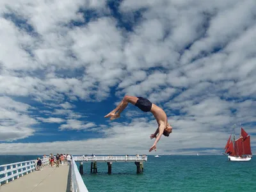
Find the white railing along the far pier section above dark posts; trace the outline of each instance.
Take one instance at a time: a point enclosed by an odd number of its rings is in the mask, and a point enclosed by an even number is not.
[[[97,161],[97,162],[143,162],[147,156],[75,156],[74,161]]]

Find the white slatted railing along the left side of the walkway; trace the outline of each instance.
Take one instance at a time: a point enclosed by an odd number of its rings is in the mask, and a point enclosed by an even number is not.
[[[49,159],[41,160],[42,165],[49,164]],[[0,186],[33,172],[35,168],[36,160],[0,165]]]

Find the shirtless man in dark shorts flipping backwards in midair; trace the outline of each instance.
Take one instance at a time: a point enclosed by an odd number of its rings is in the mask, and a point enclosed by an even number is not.
[[[163,109],[159,108],[155,104],[152,104],[148,99],[144,99],[143,97],[134,97],[125,95],[124,99],[118,104],[118,106],[108,113],[108,115],[104,116],[105,118],[110,117],[110,120],[114,120],[120,117],[120,114],[127,107],[128,103],[133,104],[134,106],[141,109],[141,111],[148,112],[150,111],[154,117],[156,118],[158,128],[154,134],[150,135],[150,139],[156,138],[154,145],[149,149],[149,152],[152,150],[156,150],[156,143],[160,140],[162,134],[164,136],[169,136],[172,132],[172,126],[168,124],[166,113]],[[117,112],[117,113],[116,113]],[[157,135],[158,134],[158,135]]]

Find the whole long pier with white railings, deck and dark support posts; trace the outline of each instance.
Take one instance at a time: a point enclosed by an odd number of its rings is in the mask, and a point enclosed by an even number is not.
[[[1,192],[43,192],[43,191],[76,191],[88,192],[84,181],[83,163],[90,162],[91,170],[97,173],[97,163],[106,163],[108,173],[115,162],[134,162],[137,173],[143,172],[143,162],[147,156],[74,156],[70,165],[60,164],[60,167],[49,166],[49,158],[44,158],[42,170],[35,171],[35,160],[0,165],[0,191]],[[76,161],[80,163],[79,170]]]

